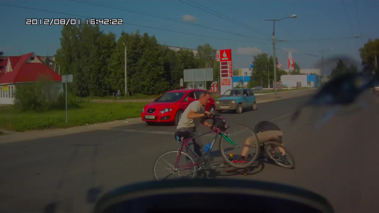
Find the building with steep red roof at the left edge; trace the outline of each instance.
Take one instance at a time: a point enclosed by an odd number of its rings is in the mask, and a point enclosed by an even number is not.
[[[2,57],[0,66],[0,104],[14,104],[16,86],[44,79],[56,82],[63,89],[62,77],[42,63],[41,56],[27,53],[22,56]]]

